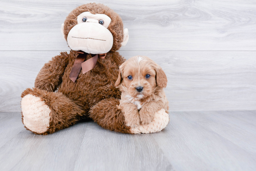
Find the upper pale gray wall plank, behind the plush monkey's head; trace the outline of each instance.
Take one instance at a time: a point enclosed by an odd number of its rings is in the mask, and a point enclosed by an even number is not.
[[[91,1],[0,1],[0,50],[69,50],[61,24]],[[129,29],[121,50],[256,50],[256,2],[95,1],[115,10]]]

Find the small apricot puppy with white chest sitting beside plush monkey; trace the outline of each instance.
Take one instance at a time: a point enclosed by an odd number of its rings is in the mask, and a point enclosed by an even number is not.
[[[164,71],[149,57],[134,56],[119,67],[115,86],[122,92],[119,108],[127,126],[148,124],[161,109],[168,113],[166,85]]]

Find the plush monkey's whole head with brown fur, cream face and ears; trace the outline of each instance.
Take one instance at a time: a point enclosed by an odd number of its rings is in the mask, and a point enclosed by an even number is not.
[[[121,17],[107,6],[96,3],[75,8],[61,25],[61,32],[72,50],[89,54],[117,51],[129,39]]]

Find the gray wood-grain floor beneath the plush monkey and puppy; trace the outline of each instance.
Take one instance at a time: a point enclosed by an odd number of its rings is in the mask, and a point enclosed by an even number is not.
[[[256,170],[256,111],[171,112],[158,133],[111,132],[92,121],[50,135],[0,113],[1,170]]]

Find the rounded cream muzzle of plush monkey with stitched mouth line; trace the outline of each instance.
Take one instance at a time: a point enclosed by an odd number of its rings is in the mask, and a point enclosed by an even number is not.
[[[113,46],[113,35],[96,22],[75,25],[68,33],[67,42],[72,50],[82,50],[88,54],[105,54]]]

